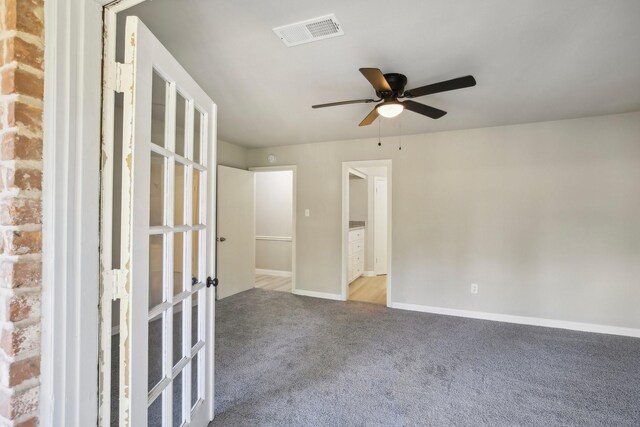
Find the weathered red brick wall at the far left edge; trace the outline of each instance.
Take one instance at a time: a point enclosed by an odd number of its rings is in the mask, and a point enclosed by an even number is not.
[[[44,0],[0,0],[0,426],[38,424]]]

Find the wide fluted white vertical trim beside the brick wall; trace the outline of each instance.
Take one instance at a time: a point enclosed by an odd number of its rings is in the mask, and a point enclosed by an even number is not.
[[[43,426],[95,425],[102,6],[48,0],[43,118]]]

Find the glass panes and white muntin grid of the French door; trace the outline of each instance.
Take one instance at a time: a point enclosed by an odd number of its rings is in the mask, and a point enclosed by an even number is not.
[[[161,108],[152,109],[149,148],[152,161],[162,166],[155,166],[158,176],[152,177],[149,238],[156,240],[156,247],[150,243],[150,256],[161,241],[162,265],[150,265],[148,415],[158,419],[153,411],[160,411],[159,419],[182,425],[204,399],[206,313],[198,308],[206,303],[207,147],[202,142],[207,140],[207,115],[156,69],[152,92]],[[158,375],[152,375],[157,369],[152,361],[161,365]]]

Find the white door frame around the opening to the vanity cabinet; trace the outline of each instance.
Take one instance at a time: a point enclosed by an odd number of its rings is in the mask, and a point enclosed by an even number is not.
[[[359,160],[342,162],[342,301],[347,301],[349,289],[349,169],[367,167],[387,168],[387,307],[393,304],[393,268],[392,268],[392,201],[393,201],[393,173],[392,161],[387,160]],[[370,226],[370,224],[369,224]]]

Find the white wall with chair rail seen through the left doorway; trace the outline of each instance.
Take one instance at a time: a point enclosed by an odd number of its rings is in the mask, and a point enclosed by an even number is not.
[[[256,236],[292,237],[293,172],[256,172]],[[290,241],[256,240],[256,268],[291,272]]]

